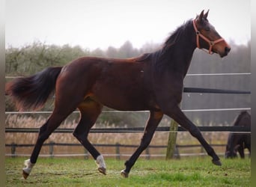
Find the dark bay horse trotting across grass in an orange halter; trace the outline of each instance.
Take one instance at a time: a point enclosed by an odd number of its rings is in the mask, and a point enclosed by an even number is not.
[[[207,49],[210,54],[219,54],[221,58],[231,50],[207,16],[208,11],[201,11],[195,19],[180,25],[161,49],[138,58],[79,58],[64,67],[49,67],[34,76],[8,82],[5,92],[12,96],[21,111],[42,107],[55,91],[55,108],[40,127],[31,157],[25,161],[23,177],[27,178],[30,174],[43,142],[76,108],[79,108],[81,115],[73,135],[94,157],[98,171],[106,174],[103,156],[88,141],[88,132],[94,126],[103,105],[121,111],[150,111],[141,143],[121,171],[123,177],[128,177],[132,165],[150,144],[164,114],[198,139],[212,157],[213,164],[221,165],[219,156],[179,107],[183,79],[195,49]]]

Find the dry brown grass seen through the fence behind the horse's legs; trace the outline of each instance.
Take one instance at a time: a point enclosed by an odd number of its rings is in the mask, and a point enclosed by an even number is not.
[[[46,122],[46,117],[29,117],[20,114],[9,114],[6,117],[5,127],[22,127],[22,128],[39,128],[43,123]],[[60,128],[75,128],[76,120],[64,121]],[[168,126],[169,121],[164,120],[165,126]],[[113,125],[99,124],[97,127],[114,127]],[[169,132],[156,132],[153,136],[153,140],[150,145],[166,145],[168,141]],[[138,145],[141,141],[143,133],[91,133],[88,138],[93,144],[135,144]],[[226,144],[228,138],[228,132],[203,132],[204,138],[210,144]],[[6,133],[5,143],[6,144],[34,144],[37,140],[37,133]],[[52,135],[46,140],[46,143],[54,141],[55,143],[71,143],[78,144],[79,141],[73,137],[72,133],[52,133]],[[189,132],[178,132],[177,144],[198,144],[198,141],[193,138]],[[30,154],[33,147],[18,147],[16,153]],[[103,154],[115,154],[115,147],[97,147],[97,149]],[[121,147],[121,153],[131,154],[135,148],[123,148]],[[217,153],[224,153],[225,147],[215,147]],[[165,154],[165,149],[153,149],[150,148],[151,154]],[[179,150],[180,153],[201,153],[201,147],[198,148],[184,148]],[[6,153],[10,153],[10,147],[6,148]],[[41,154],[49,154],[49,147],[43,147]],[[85,149],[82,146],[79,147],[66,147],[66,146],[55,146],[55,154],[65,153],[85,153]]]

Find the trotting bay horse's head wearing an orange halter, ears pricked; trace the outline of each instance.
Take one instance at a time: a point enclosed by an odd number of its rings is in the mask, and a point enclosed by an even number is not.
[[[199,49],[208,49],[209,54],[218,53],[220,57],[224,57],[231,51],[231,47],[210,24],[207,19],[208,13],[209,10],[205,14],[203,10],[193,20],[197,46]]]

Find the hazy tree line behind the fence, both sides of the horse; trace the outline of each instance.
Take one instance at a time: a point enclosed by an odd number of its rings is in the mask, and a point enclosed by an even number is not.
[[[230,42],[231,52],[225,58],[218,55],[209,55],[199,49],[195,50],[189,67],[189,74],[194,73],[249,73],[251,43],[237,45]],[[83,56],[98,56],[105,58],[131,58],[145,52],[153,52],[160,47],[159,43],[145,43],[140,49],[126,41],[121,47],[109,46],[108,49],[100,48],[90,50],[81,46],[57,46],[34,42],[20,48],[8,47],[5,50],[6,76],[28,76],[50,66],[64,66],[68,62]],[[9,81],[9,79],[7,79]],[[219,88],[226,90],[250,90],[250,76],[186,76],[186,87]],[[181,108],[248,108],[250,107],[249,95],[231,94],[202,94],[183,93]],[[46,105],[43,110],[52,109],[52,103]],[[14,111],[15,108],[7,99],[6,111]],[[109,108],[106,108],[109,110]],[[187,116],[199,126],[228,124],[240,111],[203,111],[186,112]],[[102,114],[99,121],[117,126],[143,126],[147,114]]]

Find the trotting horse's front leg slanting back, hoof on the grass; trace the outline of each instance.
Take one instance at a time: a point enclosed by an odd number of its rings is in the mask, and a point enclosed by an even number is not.
[[[129,160],[125,162],[126,168],[123,171],[121,171],[121,175],[123,177],[128,177],[129,171],[135,164],[136,160],[138,159],[138,156],[140,156],[143,150],[145,150],[147,146],[150,144],[150,141],[153,137],[153,133],[156,131],[156,127],[162,120],[162,116],[162,112],[150,111],[150,117],[147,121],[147,126],[144,129],[144,135],[141,138],[141,144],[138,146],[137,150],[135,150],[135,153],[132,154]]]

